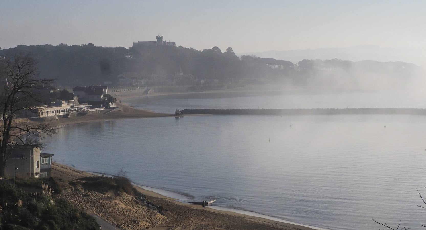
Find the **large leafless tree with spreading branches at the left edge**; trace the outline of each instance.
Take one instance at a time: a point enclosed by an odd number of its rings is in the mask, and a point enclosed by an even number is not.
[[[23,145],[42,147],[41,139],[57,127],[49,122],[17,119],[24,111],[34,112],[43,102],[40,88],[53,82],[39,77],[35,60],[29,55],[0,57],[0,176],[5,176],[8,149]]]

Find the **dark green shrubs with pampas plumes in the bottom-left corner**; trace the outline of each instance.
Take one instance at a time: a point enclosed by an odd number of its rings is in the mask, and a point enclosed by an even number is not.
[[[26,193],[0,181],[0,229],[2,230],[99,230],[89,214],[54,199],[52,187],[41,193]]]

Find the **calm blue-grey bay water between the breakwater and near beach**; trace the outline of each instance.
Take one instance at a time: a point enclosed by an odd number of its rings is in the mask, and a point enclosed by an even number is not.
[[[371,218],[402,219],[417,229],[425,124],[405,115],[124,119],[66,126],[44,151],[81,170],[124,167],[137,184],[297,223],[358,230],[378,229]]]

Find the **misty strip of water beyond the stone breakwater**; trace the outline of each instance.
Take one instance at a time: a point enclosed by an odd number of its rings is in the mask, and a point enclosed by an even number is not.
[[[135,108],[161,113],[175,109],[238,109],[238,108],[426,108],[426,95],[421,91],[354,91],[318,92],[233,92],[175,94],[123,100]]]

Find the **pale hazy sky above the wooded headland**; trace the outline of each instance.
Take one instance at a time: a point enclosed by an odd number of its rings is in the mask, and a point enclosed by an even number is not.
[[[426,47],[426,1],[0,0],[0,47],[164,40],[235,52]]]

